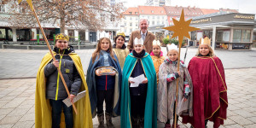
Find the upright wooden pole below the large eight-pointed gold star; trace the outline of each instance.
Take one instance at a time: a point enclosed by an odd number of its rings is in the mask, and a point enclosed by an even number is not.
[[[182,39],[181,39],[182,38]],[[183,37],[178,37],[178,53],[177,53],[177,72],[179,71],[179,63],[180,63],[180,51],[181,51],[181,45],[183,43]],[[177,127],[177,93],[178,93],[178,78],[176,79],[176,102],[175,102],[175,114],[174,114],[174,128]]]

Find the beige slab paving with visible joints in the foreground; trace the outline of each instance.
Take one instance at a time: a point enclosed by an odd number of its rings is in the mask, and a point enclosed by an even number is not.
[[[226,69],[228,85],[228,119],[225,128],[256,127],[256,68]],[[30,128],[34,127],[34,97],[36,79],[2,79],[0,80],[0,127]],[[181,119],[181,118],[180,118]],[[113,124],[120,127],[119,117]],[[94,127],[97,119],[93,119]],[[182,125],[181,127],[189,127]],[[158,127],[164,127],[159,123]],[[212,128],[212,122],[208,123]]]

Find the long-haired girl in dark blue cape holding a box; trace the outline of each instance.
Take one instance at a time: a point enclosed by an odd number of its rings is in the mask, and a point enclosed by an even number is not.
[[[104,127],[103,102],[106,102],[105,117],[108,127],[113,127],[112,116],[119,115],[119,89],[121,68],[113,53],[109,38],[101,38],[92,54],[87,71],[86,82],[90,93],[92,116],[97,114],[99,125]]]

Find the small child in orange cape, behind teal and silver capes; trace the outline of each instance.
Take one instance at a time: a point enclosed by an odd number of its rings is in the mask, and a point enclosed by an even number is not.
[[[159,81],[159,75],[158,75],[158,72],[159,72],[159,67],[160,65],[165,61],[165,57],[163,56],[163,52],[161,51],[161,47],[160,47],[160,41],[159,40],[154,40],[153,41],[153,50],[152,52],[150,53],[150,56],[153,60],[153,63],[154,63],[154,69],[155,69],[155,73],[156,73],[156,78],[157,78],[157,84],[158,84],[158,81]]]

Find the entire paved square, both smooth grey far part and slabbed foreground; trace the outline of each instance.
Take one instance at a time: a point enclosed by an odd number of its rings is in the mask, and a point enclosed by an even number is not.
[[[166,48],[162,48],[166,55]],[[195,55],[197,49],[189,49],[186,63]],[[81,49],[77,53],[81,57],[84,73],[94,49]],[[183,59],[185,49],[182,49]],[[43,56],[48,50],[0,49],[0,127],[30,128],[34,126],[34,78]],[[228,85],[228,119],[221,127],[256,127],[256,49],[252,51],[216,50],[216,54],[224,63],[226,82]],[[254,68],[251,68],[254,67]],[[16,78],[16,79],[9,79]],[[181,118],[180,118],[181,119]],[[119,117],[113,124],[120,127]],[[97,119],[93,119],[94,127]],[[182,125],[189,127],[190,125]],[[212,127],[212,122],[208,127]],[[158,123],[158,127],[164,127]]]

